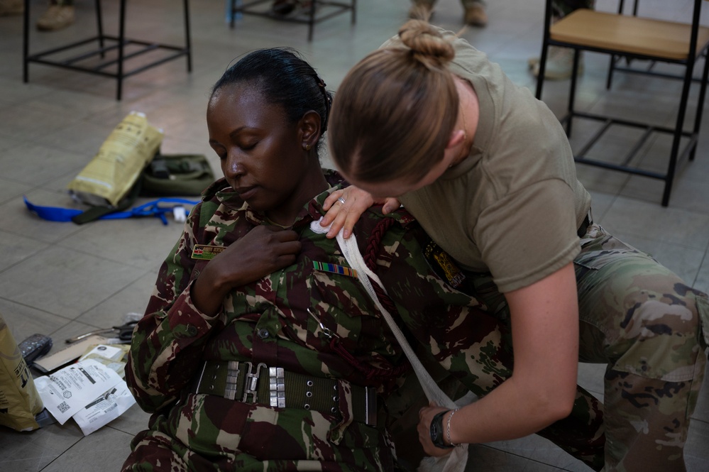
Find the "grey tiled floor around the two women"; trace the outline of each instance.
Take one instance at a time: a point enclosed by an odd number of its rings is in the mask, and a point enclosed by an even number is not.
[[[76,0],[77,24],[65,31],[32,35],[39,50],[88,35],[93,1]],[[539,53],[542,0],[490,0],[490,24],[468,29],[463,37],[499,62],[522,86],[534,87],[527,58]],[[681,18],[690,1],[644,1],[643,7],[666,18]],[[32,0],[33,17],[45,0]],[[117,2],[104,2],[112,20]],[[179,2],[128,2],[128,35],[166,42],[182,40]],[[32,65],[30,83],[22,83],[21,17],[0,18],[0,313],[18,341],[33,333],[48,334],[55,350],[67,336],[121,322],[142,312],[160,262],[180,233],[180,224],[163,226],[153,219],[101,221],[85,226],[49,223],[29,214],[22,195],[37,204],[70,206],[65,187],[92,158],[109,132],[131,110],[143,111],[165,131],[165,153],[205,153],[215,169],[218,160],[207,145],[204,111],[209,87],[235,57],[269,46],[301,51],[336,89],[356,60],[378,47],[405,21],[408,0],[360,0],[357,23],[348,16],[317,25],[308,43],[306,28],[247,17],[230,30],[224,0],[192,2],[194,70],[178,60],[126,80],[123,101],[116,101],[115,82],[94,75]],[[600,9],[611,0],[599,0]],[[440,0],[435,23],[461,28],[457,0]],[[113,21],[106,28],[115,33]],[[113,30],[111,30],[113,28]],[[619,75],[605,92],[607,62],[586,56],[579,84],[579,104],[587,109],[614,109],[624,116],[654,114],[669,122],[678,84],[670,80]],[[544,100],[558,114],[564,109],[568,83],[548,82]],[[696,94],[695,94],[696,96]],[[693,113],[693,111],[692,111]],[[705,119],[697,158],[676,179],[669,207],[659,205],[661,185],[578,166],[593,193],[595,219],[625,241],[653,253],[688,284],[709,290],[709,120]],[[588,128],[576,128],[577,135]],[[627,133],[626,133],[627,134]],[[572,143],[576,143],[576,137]],[[618,133],[598,153],[613,155],[627,146]],[[643,155],[645,163],[661,160],[667,143],[659,141]],[[659,156],[659,157],[658,157]],[[328,161],[325,160],[327,163]],[[600,395],[602,366],[582,365],[579,381]],[[688,469],[709,471],[709,388],[700,405],[687,446]],[[118,470],[128,443],[148,416],[133,407],[126,415],[82,437],[72,422],[30,434],[0,429],[3,471]],[[471,448],[469,471],[588,471],[538,437]]]

